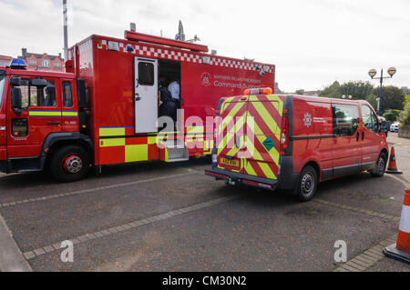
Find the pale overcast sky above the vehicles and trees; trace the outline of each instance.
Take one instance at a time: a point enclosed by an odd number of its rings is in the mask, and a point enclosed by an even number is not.
[[[62,0],[0,0],[0,55],[63,53]],[[335,80],[371,81],[367,72],[397,68],[385,85],[410,87],[409,0],[67,0],[68,42],[137,31],[187,39],[218,55],[276,65],[285,92],[318,90]],[[378,85],[375,80],[372,84]]]

